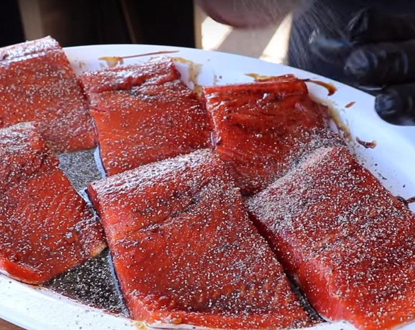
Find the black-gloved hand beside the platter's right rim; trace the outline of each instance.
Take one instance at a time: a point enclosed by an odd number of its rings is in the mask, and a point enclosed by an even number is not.
[[[325,61],[343,63],[356,87],[374,93],[381,118],[415,125],[415,14],[398,16],[365,8],[340,35],[344,39],[315,31],[310,47]]]

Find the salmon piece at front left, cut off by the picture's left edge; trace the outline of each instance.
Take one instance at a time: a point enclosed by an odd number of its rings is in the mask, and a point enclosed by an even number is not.
[[[0,130],[0,269],[39,284],[98,255],[103,228],[27,123]]]

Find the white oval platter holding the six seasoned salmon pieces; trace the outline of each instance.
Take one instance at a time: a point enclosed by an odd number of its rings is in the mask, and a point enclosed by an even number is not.
[[[327,95],[327,89],[309,83],[310,93],[323,103],[336,108],[352,135],[363,141],[376,141],[374,149],[354,144],[355,152],[386,188],[395,195],[409,198],[415,196],[415,127],[398,127],[379,119],[374,111],[374,97],[349,86],[331,81],[288,66],[271,64],[244,56],[198,49],[149,45],[99,45],[65,49],[77,73],[107,67],[103,56],[132,56],[157,51],[177,51],[168,56],[181,57],[200,66],[177,63],[183,81],[198,73],[197,83],[212,85],[249,82],[247,73],[266,76],[294,73],[300,78],[314,78],[332,83],[337,92]],[[149,56],[127,57],[124,64],[147,61]],[[190,73],[190,77],[189,77]],[[346,105],[355,102],[353,106]],[[413,208],[414,209],[414,208]],[[139,327],[127,318],[108,314],[91,308],[45,289],[34,288],[0,274],[0,317],[29,330],[131,330]],[[183,327],[182,327],[183,328]],[[407,325],[405,329],[415,328]],[[325,324],[316,329],[353,329],[345,323]]]

